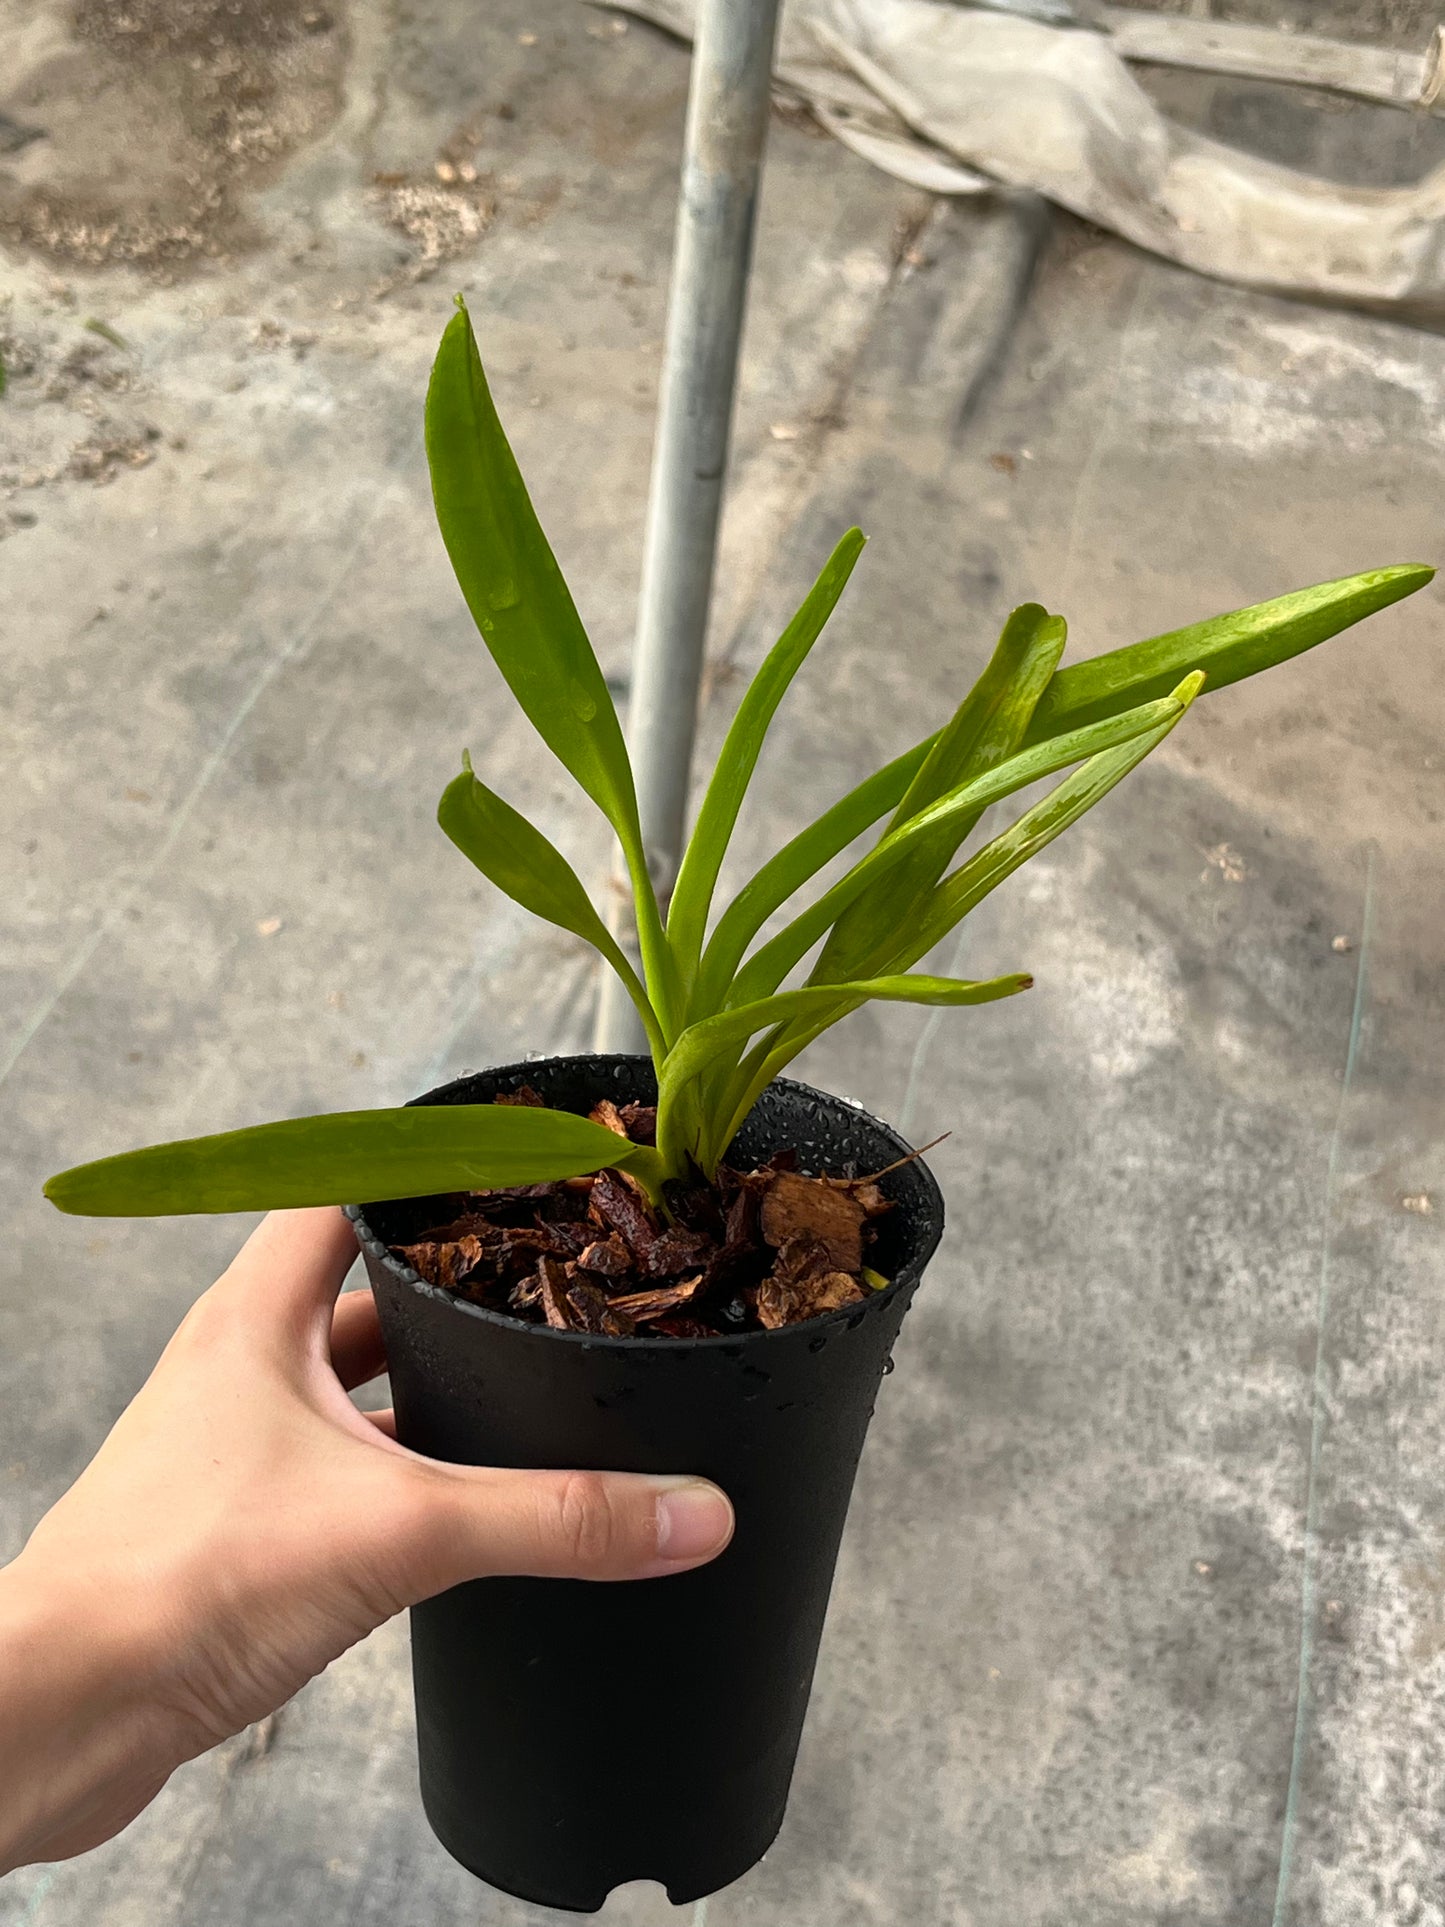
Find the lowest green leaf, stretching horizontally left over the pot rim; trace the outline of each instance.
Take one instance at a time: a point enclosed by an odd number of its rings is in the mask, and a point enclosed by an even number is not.
[[[83,1218],[156,1218],[491,1191],[607,1164],[624,1164],[657,1187],[657,1154],[588,1118],[526,1104],[414,1104],[150,1145],[77,1164],[52,1177],[44,1195]]]

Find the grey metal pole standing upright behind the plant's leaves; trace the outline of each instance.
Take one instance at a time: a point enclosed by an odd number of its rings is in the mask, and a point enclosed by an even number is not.
[[[778,0],[697,4],[628,707],[642,834],[663,904],[686,831],[776,25]],[[611,971],[597,1048],[645,1050]]]

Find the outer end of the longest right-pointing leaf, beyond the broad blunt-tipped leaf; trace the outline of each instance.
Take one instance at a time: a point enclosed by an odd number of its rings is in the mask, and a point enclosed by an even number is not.
[[[1044,690],[1029,725],[1029,742],[1042,742],[1081,723],[1133,709],[1135,703],[1164,696],[1189,669],[1202,669],[1206,690],[1227,688],[1275,663],[1302,655],[1353,622],[1414,595],[1435,574],[1418,563],[1395,568],[1368,568],[1360,576],[1320,582],[1293,595],[1277,595],[1250,609],[1191,622],[1168,636],[1150,636],[1087,663],[1060,669]]]

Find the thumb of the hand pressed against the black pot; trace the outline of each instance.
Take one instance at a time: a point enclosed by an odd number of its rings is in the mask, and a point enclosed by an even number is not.
[[[661,1578],[705,1565],[732,1538],[732,1501],[705,1478],[441,1465],[426,1476],[414,1599],[503,1572]]]

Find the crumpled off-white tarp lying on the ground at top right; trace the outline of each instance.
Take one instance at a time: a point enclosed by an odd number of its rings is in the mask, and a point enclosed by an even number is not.
[[[609,0],[690,39],[694,0]],[[931,193],[1033,189],[1198,274],[1445,322],[1445,168],[1341,187],[1171,121],[1106,33],[938,0],[786,0],[776,77]]]

